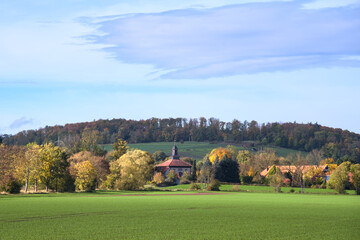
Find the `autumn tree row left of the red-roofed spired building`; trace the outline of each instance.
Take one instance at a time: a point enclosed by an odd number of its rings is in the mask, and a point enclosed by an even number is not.
[[[153,176],[153,157],[129,150],[119,140],[108,156],[81,151],[69,154],[52,143],[0,145],[0,191],[19,192],[25,186],[54,191],[92,191],[96,188],[139,189]]]

